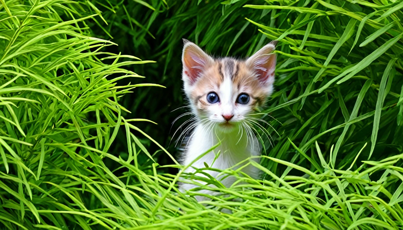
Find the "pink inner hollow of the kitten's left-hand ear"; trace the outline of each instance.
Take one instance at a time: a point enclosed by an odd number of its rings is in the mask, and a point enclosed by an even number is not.
[[[206,66],[206,54],[202,53],[202,50],[197,50],[194,47],[189,46],[183,51],[183,67],[184,73],[194,83],[199,77],[200,72],[204,70]]]

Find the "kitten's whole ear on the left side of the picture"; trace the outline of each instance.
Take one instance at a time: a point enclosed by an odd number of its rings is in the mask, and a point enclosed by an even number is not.
[[[193,42],[186,39],[183,39],[183,42],[183,81],[192,85],[196,82],[200,72],[205,70],[214,60]]]

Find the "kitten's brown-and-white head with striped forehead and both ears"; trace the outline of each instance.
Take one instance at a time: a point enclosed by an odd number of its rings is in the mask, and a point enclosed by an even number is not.
[[[184,91],[199,120],[228,132],[264,105],[273,91],[274,42],[247,60],[237,60],[214,59],[196,44],[184,41]]]

